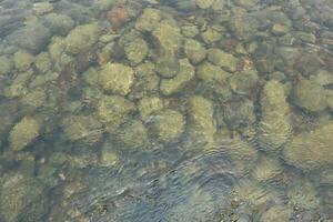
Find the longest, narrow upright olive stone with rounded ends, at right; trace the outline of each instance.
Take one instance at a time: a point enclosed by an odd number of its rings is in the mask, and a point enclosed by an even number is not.
[[[258,127],[258,142],[268,151],[279,150],[292,133],[291,110],[283,84],[275,80],[266,82],[260,102],[262,115]]]

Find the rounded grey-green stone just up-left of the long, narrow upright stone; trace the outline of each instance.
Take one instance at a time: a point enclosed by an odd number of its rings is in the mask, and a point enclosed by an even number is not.
[[[255,92],[258,80],[258,72],[249,70],[232,74],[229,79],[229,84],[233,92],[251,95]]]

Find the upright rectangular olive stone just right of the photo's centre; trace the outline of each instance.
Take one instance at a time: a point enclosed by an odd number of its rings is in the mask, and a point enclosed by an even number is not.
[[[216,133],[213,102],[195,95],[189,99],[188,107],[190,141],[203,143],[209,149]]]

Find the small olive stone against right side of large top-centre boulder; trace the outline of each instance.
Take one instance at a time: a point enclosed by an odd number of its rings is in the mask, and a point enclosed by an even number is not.
[[[193,64],[198,64],[204,60],[206,51],[205,48],[196,40],[186,39],[184,46],[185,54]]]

